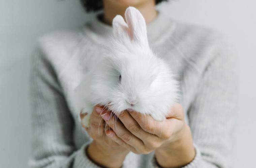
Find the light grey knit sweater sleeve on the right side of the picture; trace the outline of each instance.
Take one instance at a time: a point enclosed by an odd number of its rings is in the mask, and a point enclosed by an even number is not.
[[[237,57],[221,43],[209,61],[188,110],[196,156],[183,168],[231,168],[237,111]],[[155,158],[153,167],[158,167]]]

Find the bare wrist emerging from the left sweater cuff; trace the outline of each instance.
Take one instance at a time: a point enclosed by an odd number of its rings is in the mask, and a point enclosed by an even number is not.
[[[88,158],[101,167],[120,168],[128,152],[110,152],[101,144],[93,141],[86,149]]]

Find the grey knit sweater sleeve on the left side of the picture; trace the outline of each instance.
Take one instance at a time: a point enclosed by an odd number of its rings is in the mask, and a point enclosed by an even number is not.
[[[31,168],[96,168],[85,154],[85,145],[76,150],[73,118],[67,107],[55,71],[41,49],[32,58]]]

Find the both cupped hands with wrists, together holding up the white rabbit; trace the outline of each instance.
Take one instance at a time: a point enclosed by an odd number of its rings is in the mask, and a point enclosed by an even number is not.
[[[121,167],[130,151],[136,154],[155,151],[162,167],[181,167],[193,160],[192,135],[180,104],[175,104],[162,122],[135,111],[125,110],[115,115],[102,108],[94,108],[90,127],[85,128],[94,139],[88,148],[89,157],[99,165]]]

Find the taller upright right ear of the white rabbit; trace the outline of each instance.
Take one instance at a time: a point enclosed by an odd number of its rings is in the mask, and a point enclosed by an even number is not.
[[[125,11],[125,19],[131,39],[141,46],[148,47],[146,21],[139,10],[134,7],[128,7]]]

